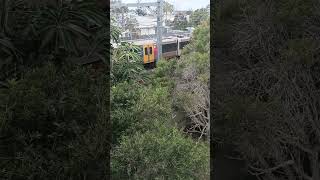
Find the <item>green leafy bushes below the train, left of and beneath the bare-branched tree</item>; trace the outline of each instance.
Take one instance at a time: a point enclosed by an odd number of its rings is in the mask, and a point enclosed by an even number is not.
[[[209,179],[209,147],[172,122],[176,61],[160,60],[144,85],[112,88],[112,179]]]

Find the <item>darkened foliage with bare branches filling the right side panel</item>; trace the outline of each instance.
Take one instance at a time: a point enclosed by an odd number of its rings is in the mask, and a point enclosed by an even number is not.
[[[217,7],[214,137],[260,179],[319,179],[319,2]]]

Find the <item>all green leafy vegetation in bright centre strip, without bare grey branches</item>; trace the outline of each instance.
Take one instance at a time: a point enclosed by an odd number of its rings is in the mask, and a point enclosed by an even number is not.
[[[209,179],[208,142],[196,133],[184,131],[187,125],[180,126],[181,119],[173,117],[177,113],[175,107],[190,105],[182,104],[175,98],[177,83],[183,81],[178,71],[187,72],[189,66],[203,61],[196,68],[201,70],[194,78],[198,81],[198,77],[206,76],[204,82],[208,83],[209,69],[204,68],[208,67],[208,51],[201,50],[201,47],[208,48],[203,45],[208,43],[203,41],[204,38],[209,39],[208,30],[207,20],[195,31],[194,41],[189,47],[197,48],[186,54],[181,62],[177,59],[160,60],[153,71],[140,69],[140,64],[135,64],[138,57],[135,58],[134,52],[122,51],[129,56],[132,54],[130,61],[125,56],[120,56],[123,60],[119,60],[119,55],[114,53],[113,64],[116,66],[113,66],[112,74],[121,78],[114,81],[111,89],[113,179]],[[198,59],[199,53],[202,59]],[[175,70],[177,68],[178,71]],[[123,75],[127,73],[117,73],[129,71],[131,74],[125,78]],[[205,88],[208,89],[207,84]],[[208,96],[200,96],[205,95]],[[184,99],[182,96],[183,93],[179,94],[180,100]],[[190,98],[197,96],[191,95]],[[184,110],[182,112],[185,113]],[[207,128],[207,125],[208,121],[204,127]],[[197,138],[193,138],[192,134]]]

